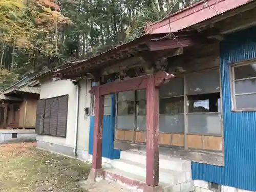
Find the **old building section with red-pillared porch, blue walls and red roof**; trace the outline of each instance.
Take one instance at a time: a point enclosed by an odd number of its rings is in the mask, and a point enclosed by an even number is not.
[[[40,76],[94,81],[90,182],[144,192],[256,190],[255,10],[256,1],[201,1]]]

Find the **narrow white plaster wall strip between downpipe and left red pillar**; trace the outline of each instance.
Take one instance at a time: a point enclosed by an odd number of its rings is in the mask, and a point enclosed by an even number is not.
[[[89,151],[89,132],[90,132],[90,116],[85,116],[84,108],[91,106],[91,89],[90,80],[81,80],[79,96],[79,114],[78,114],[78,136],[77,148],[79,150]]]

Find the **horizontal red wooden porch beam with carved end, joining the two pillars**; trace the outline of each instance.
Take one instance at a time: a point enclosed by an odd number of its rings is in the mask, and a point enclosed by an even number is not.
[[[174,75],[168,74],[165,71],[159,71],[156,74],[152,74],[152,75],[156,77],[154,78],[156,87],[160,87],[165,80],[174,77]],[[100,94],[109,95],[112,93],[118,93],[123,91],[146,89],[147,78],[149,76],[150,75],[144,75],[140,77],[114,81],[108,84],[102,84],[100,86]],[[92,87],[89,93],[95,94],[96,89],[97,89],[97,86]]]

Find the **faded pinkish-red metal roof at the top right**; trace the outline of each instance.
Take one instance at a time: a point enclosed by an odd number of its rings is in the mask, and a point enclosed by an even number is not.
[[[193,26],[254,0],[204,0],[146,27],[147,33],[169,33]],[[169,25],[170,23],[170,25]]]

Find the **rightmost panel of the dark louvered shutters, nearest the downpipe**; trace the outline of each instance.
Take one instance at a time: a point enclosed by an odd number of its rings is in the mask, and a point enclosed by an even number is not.
[[[68,118],[68,95],[58,97],[57,136],[66,137]]]

